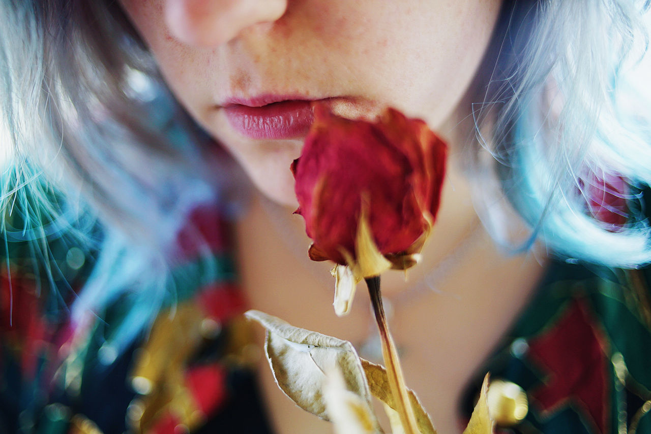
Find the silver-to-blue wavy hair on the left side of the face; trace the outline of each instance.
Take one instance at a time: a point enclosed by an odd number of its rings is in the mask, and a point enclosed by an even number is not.
[[[208,172],[207,136],[162,84],[117,2],[0,0],[0,10],[5,251],[28,244],[35,261],[21,262],[51,292],[71,290],[53,240],[64,236],[92,259],[73,321],[101,318],[117,301],[131,306],[100,353],[110,361],[180,288],[218,273],[201,240],[199,260],[180,267],[175,242],[193,209],[221,201],[219,173]],[[219,172],[219,162],[210,167]]]

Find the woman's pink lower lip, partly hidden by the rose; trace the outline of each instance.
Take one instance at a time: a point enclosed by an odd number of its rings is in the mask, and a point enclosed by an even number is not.
[[[311,101],[281,101],[262,107],[236,104],[224,111],[236,131],[258,139],[298,138],[307,134],[314,121]]]

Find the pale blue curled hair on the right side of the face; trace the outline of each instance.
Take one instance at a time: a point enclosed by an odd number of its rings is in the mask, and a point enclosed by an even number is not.
[[[507,28],[494,41],[499,54],[489,64],[484,103],[473,110],[478,142],[491,156],[474,166],[485,174],[476,195],[484,222],[505,240],[501,225],[512,222],[486,188],[497,173],[500,194],[531,228],[520,248],[540,237],[573,262],[624,268],[650,262],[647,210],[635,202],[651,183],[651,101],[635,90],[646,80],[627,75],[646,50],[648,2],[510,3],[502,19]],[[608,175],[629,185],[611,192],[630,202],[622,227],[587,212],[585,184]]]

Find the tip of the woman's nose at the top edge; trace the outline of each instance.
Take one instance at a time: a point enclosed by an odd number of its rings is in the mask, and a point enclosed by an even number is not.
[[[165,22],[186,44],[214,47],[240,31],[283,16],[288,0],[167,0]]]

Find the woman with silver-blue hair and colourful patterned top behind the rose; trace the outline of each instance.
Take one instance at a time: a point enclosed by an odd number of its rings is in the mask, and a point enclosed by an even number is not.
[[[251,416],[262,414],[255,409],[255,387],[249,377],[242,380],[245,374],[234,374],[243,371],[231,363],[245,364],[242,355],[251,347],[240,342],[233,352],[217,342],[238,335],[234,313],[242,310],[240,292],[229,286],[225,229],[215,222],[242,205],[243,181],[232,182],[238,172],[221,149],[267,198],[294,207],[288,166],[311,121],[307,101],[322,101],[350,118],[372,119],[384,107],[396,107],[425,120],[450,144],[450,174],[424,261],[408,283],[387,276],[383,288],[395,307],[393,333],[404,349],[408,383],[439,431],[455,432],[462,391],[475,371],[486,371],[481,361],[519,318],[545,269],[556,274],[547,277],[552,282],[561,275],[596,279],[583,269],[549,264],[545,251],[531,248],[535,238],[574,262],[635,268],[649,261],[643,205],[651,179],[648,106],[631,110],[637,99],[619,99],[626,91],[620,77],[643,40],[643,6],[632,0],[3,1],[3,104],[14,146],[3,199],[5,209],[17,210],[7,223],[12,266],[5,273],[3,314],[11,322],[25,305],[43,309],[46,300],[46,310],[59,315],[25,327],[40,330],[36,342],[68,345],[59,354],[67,358],[64,368],[54,376],[64,383],[63,392],[59,383],[43,392],[39,382],[51,377],[48,364],[16,367],[38,375],[23,375],[20,385],[5,390],[42,392],[7,406],[1,414],[8,431],[56,424],[82,429],[90,421],[105,432],[125,426],[224,430],[229,424],[238,432],[266,429],[261,417]],[[484,235],[472,190],[493,238],[521,255],[504,255]],[[331,281],[320,277],[327,268],[295,254],[307,239],[300,238],[301,223],[291,219],[291,210],[283,214],[279,205],[252,195],[234,230],[251,307],[367,342],[363,303],[348,318],[333,320]],[[508,206],[499,204],[503,198],[521,220],[507,215]],[[515,229],[514,222],[525,225]],[[27,265],[16,259],[20,255]],[[25,270],[36,276],[23,278]],[[14,297],[18,301],[18,294],[32,294],[39,285],[46,295],[14,306]],[[644,312],[648,292],[635,294],[627,312],[643,317],[637,311]],[[579,324],[597,324],[577,340],[611,342],[612,348],[590,347],[603,350],[590,353],[594,360],[615,363],[615,355],[622,355],[620,341],[591,332],[601,325],[585,320],[593,315],[585,300],[572,292],[555,300],[555,307],[544,304],[547,320],[525,314],[517,323],[535,323],[534,329],[509,331],[511,341],[533,348],[528,369],[540,368],[538,383],[523,385],[533,403],[526,423],[515,429],[614,432],[622,428],[622,405],[629,403],[627,426],[648,424],[644,405],[635,407],[633,396],[643,403],[651,399],[644,389],[651,385],[637,374],[623,386],[616,383],[621,364],[619,371],[611,364],[585,368],[605,378],[592,395],[578,386],[536,392],[549,383],[540,366],[555,360],[541,348],[557,342],[542,345],[541,330],[564,324],[564,313],[573,313],[568,318]],[[72,325],[50,336],[72,301]],[[542,302],[536,299],[534,308],[536,303]],[[165,313],[152,326],[159,309]],[[197,322],[197,316],[212,322]],[[220,333],[221,327],[229,333]],[[14,353],[54,351],[25,348],[30,335],[17,328],[7,331]],[[58,337],[68,329],[72,338]],[[143,329],[151,331],[143,336]],[[647,335],[648,327],[635,338]],[[511,341],[498,348],[512,348]],[[575,353],[570,350],[552,354]],[[240,358],[229,359],[224,351]],[[208,363],[215,360],[218,368]],[[644,372],[641,363],[636,372]],[[515,381],[504,365],[488,366]],[[114,390],[115,378],[124,376],[130,384]],[[260,386],[277,432],[329,431],[313,416],[292,413],[265,376],[262,370]],[[237,379],[236,387],[219,386]],[[31,389],[28,380],[35,382]],[[613,398],[628,393],[622,390],[630,384],[639,390],[629,400]],[[230,396],[222,396],[224,389]],[[91,400],[94,390],[111,390],[119,404]],[[598,398],[586,400],[580,392]]]

